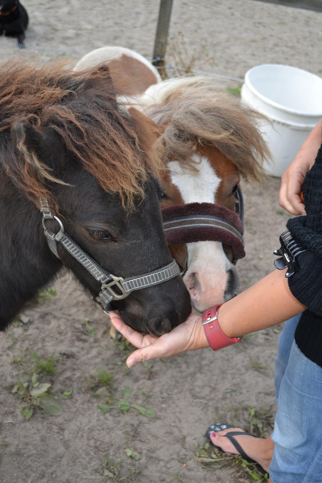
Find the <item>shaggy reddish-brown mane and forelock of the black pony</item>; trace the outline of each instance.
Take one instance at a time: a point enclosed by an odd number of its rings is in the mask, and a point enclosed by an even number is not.
[[[39,207],[39,197],[56,206],[49,182],[63,183],[28,142],[14,143],[14,127],[28,120],[42,132],[59,136],[81,169],[91,173],[109,193],[118,194],[124,207],[144,198],[148,172],[159,176],[156,139],[150,119],[116,103],[107,68],[69,71],[64,64],[37,68],[9,61],[0,66],[0,163],[13,183]]]

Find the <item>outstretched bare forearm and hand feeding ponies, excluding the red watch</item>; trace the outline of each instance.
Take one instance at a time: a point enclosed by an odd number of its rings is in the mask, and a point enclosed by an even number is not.
[[[291,294],[285,272],[276,270],[241,293],[219,310],[218,323],[228,337],[270,327],[305,310]],[[161,337],[142,336],[126,326],[119,314],[110,313],[112,324],[128,341],[139,349],[127,358],[132,367],[154,357],[168,357],[181,352],[209,347],[202,318],[191,314],[188,319]]]

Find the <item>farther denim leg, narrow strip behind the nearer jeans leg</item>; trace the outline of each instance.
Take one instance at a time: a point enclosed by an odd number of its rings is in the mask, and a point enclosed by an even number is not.
[[[276,405],[278,406],[278,399],[279,399],[279,392],[280,392],[280,383],[282,382],[285,369],[287,363],[289,361],[293,341],[294,341],[294,333],[298,321],[300,320],[301,313],[292,317],[285,322],[284,328],[281,331],[279,344],[278,344],[278,352],[277,356],[275,357],[275,395],[276,395]]]

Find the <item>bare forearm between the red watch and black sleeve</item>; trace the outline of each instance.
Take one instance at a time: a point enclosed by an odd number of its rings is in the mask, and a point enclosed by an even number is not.
[[[279,324],[304,310],[289,289],[285,270],[275,270],[225,302],[218,323],[226,336],[237,337]]]

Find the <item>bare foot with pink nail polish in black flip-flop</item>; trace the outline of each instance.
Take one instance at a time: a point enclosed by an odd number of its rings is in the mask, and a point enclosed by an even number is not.
[[[230,427],[228,429],[224,429],[223,431],[218,431],[217,433],[210,434],[210,440],[215,445],[221,448],[225,453],[231,453],[232,455],[239,455],[237,449],[233,445],[233,443],[226,438],[224,435],[229,433],[230,431],[240,431],[245,432],[240,427]],[[265,469],[268,473],[269,464],[272,459],[273,450],[274,450],[274,443],[271,440],[271,437],[268,438],[255,438],[255,436],[234,436],[233,437],[242,447],[246,455],[257,461],[261,465],[262,468]]]

